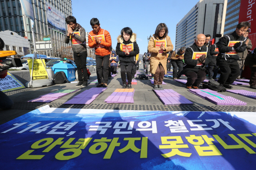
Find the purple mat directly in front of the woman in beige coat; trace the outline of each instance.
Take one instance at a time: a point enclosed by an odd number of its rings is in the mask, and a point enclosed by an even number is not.
[[[181,94],[171,89],[154,90],[164,105],[193,104]]]

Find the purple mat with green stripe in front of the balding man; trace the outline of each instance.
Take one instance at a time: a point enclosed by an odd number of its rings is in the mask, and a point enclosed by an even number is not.
[[[235,99],[231,96],[225,96],[210,89],[190,89],[189,91],[216,105],[245,106],[247,104],[241,100]]]

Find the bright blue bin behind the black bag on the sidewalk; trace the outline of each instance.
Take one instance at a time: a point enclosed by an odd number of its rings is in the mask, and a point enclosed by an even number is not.
[[[59,71],[63,71],[69,81],[75,80],[75,67],[69,63],[59,62],[52,67],[54,74]]]

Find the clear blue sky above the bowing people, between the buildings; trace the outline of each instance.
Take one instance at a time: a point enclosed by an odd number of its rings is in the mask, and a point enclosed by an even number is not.
[[[98,18],[101,28],[112,38],[112,47],[121,29],[130,27],[137,34],[140,54],[148,47],[148,37],[153,35],[159,23],[164,22],[175,47],[177,23],[199,0],[72,0],[72,13],[86,32],[92,31],[90,20]]]

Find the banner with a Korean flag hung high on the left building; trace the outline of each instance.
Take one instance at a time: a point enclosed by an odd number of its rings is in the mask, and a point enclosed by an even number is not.
[[[61,11],[57,10],[53,7],[50,3],[45,2],[46,5],[46,16],[48,27],[50,29],[54,29],[58,32],[62,32],[66,34],[66,22],[65,22],[65,15]]]

